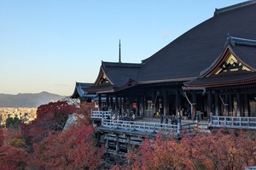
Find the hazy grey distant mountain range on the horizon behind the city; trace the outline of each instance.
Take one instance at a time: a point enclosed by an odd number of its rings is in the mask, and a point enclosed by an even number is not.
[[[0,94],[0,107],[38,107],[50,101],[63,99],[64,96],[41,92],[39,94]]]

